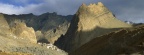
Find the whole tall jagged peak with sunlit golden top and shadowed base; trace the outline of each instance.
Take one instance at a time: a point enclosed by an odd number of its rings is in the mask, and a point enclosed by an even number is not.
[[[129,27],[131,25],[116,19],[101,2],[89,6],[82,4],[66,35],[59,38],[55,45],[71,52],[93,38],[120,28]]]

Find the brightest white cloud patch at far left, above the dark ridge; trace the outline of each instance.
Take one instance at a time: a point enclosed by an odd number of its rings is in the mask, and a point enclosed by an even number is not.
[[[14,6],[12,4],[0,3],[0,12],[6,14],[27,14],[37,13],[37,9],[42,6],[41,4],[30,4],[29,6]]]

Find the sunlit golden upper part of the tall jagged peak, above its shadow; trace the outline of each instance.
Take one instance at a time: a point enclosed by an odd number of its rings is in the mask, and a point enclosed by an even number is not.
[[[119,28],[122,27],[120,25],[130,26],[115,19],[113,14],[101,2],[88,6],[83,3],[78,9],[76,17],[79,21],[78,26],[83,27],[84,31],[93,30],[95,27]],[[118,22],[120,25],[113,24],[114,22]]]

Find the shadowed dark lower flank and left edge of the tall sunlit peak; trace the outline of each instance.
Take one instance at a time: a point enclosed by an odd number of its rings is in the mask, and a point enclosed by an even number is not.
[[[104,35],[106,33],[122,29],[123,27],[117,28],[103,28],[95,27],[89,31],[77,31],[79,18],[75,15],[72,19],[70,27],[65,35],[62,35],[54,44],[60,49],[65,50],[66,52],[72,52],[81,45],[89,42],[90,40],[97,38],[98,36]],[[109,24],[111,25],[111,24]]]

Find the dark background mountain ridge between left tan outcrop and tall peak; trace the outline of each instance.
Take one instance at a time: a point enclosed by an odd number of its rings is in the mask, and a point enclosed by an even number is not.
[[[15,21],[18,21],[18,23],[25,23],[26,26],[32,27],[36,32],[38,42],[44,43],[54,43],[62,34],[64,35],[73,16],[57,15],[56,12],[47,12],[39,16],[33,15],[32,13],[21,15],[3,15],[10,27],[13,26]],[[41,41],[43,39],[46,41]]]

